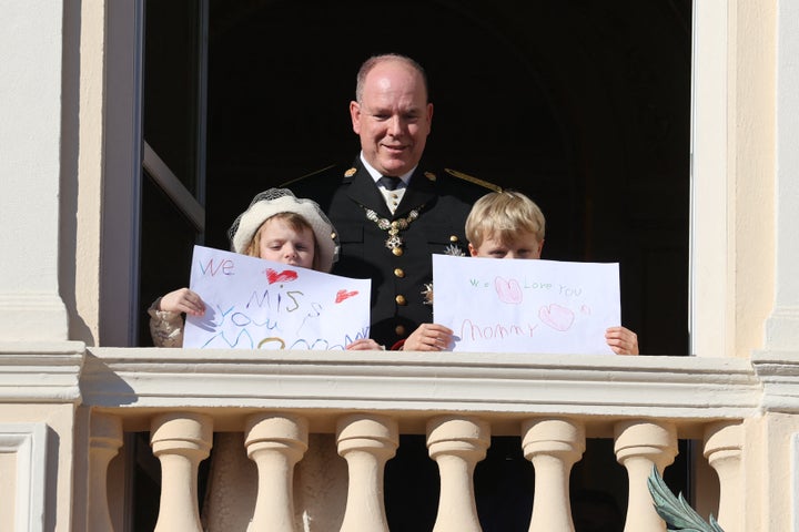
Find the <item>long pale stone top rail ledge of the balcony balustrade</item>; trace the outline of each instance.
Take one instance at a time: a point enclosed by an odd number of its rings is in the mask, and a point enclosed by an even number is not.
[[[89,348],[84,401],[218,408],[707,421],[759,412],[748,360],[409,351]]]

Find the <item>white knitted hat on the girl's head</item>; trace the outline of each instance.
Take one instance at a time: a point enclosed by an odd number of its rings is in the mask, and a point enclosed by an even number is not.
[[[330,272],[338,259],[338,237],[335,227],[313,200],[299,198],[289,188],[270,188],[253,197],[246,211],[239,215],[227,229],[231,248],[245,253],[261,225],[280,213],[295,213],[311,225],[316,238],[320,270]]]

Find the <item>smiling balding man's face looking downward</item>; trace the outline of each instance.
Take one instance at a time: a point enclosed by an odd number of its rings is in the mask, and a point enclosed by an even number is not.
[[[401,176],[422,158],[433,119],[424,81],[398,61],[370,71],[362,102],[350,103],[353,131],[366,161],[383,175]]]

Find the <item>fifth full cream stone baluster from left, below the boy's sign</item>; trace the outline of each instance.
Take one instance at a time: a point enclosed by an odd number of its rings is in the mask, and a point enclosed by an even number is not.
[[[574,532],[569,473],[585,452],[585,428],[567,419],[534,419],[522,426],[525,458],[535,468],[529,530]]]

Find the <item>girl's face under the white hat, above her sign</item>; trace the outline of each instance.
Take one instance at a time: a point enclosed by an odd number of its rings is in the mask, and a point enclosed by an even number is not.
[[[314,233],[310,228],[294,229],[284,219],[270,218],[259,229],[259,256],[276,263],[313,267]]]

